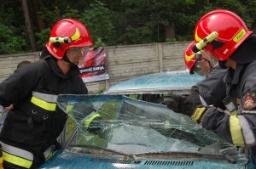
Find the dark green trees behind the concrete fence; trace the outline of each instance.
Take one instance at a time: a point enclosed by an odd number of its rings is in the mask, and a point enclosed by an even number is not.
[[[190,41],[197,20],[216,8],[230,9],[255,30],[255,0],[1,0],[0,54],[41,50],[64,18],[83,22],[95,46]]]

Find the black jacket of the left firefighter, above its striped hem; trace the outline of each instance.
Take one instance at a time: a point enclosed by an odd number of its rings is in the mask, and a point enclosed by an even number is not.
[[[86,93],[76,66],[66,76],[52,57],[20,67],[0,83],[0,104],[14,104],[4,121],[0,140],[34,155],[42,154],[55,144],[67,121],[67,114],[50,99],[59,94]]]

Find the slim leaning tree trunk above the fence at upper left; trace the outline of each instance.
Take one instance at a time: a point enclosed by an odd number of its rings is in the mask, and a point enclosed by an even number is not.
[[[30,23],[30,17],[29,17],[29,13],[28,13],[27,3],[26,3],[26,0],[21,0],[21,2],[22,2],[24,18],[25,18],[25,22],[26,22],[27,35],[28,35],[29,40],[30,40],[32,51],[35,52],[35,51],[37,51],[37,46],[36,46],[33,31],[32,31],[32,26],[31,26],[31,23]]]

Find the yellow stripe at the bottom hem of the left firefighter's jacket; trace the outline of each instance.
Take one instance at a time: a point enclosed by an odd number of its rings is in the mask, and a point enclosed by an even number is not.
[[[30,168],[32,166],[32,161],[20,158],[15,155],[11,155],[3,151],[3,161],[8,161],[9,163],[15,164],[17,166],[23,166],[25,168]]]

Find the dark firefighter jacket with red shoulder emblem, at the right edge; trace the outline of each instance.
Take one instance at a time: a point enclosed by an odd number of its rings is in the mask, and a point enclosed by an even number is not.
[[[237,64],[225,78],[227,95],[236,112],[224,112],[216,107],[207,110],[202,127],[218,133],[241,147],[256,145],[256,60]]]

